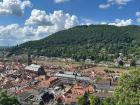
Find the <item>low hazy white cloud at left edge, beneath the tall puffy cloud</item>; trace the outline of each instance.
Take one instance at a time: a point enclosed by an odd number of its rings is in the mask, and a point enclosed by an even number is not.
[[[16,45],[30,40],[38,40],[48,36],[47,32],[48,30],[43,26],[37,28],[21,27],[18,24],[0,26],[0,46]]]

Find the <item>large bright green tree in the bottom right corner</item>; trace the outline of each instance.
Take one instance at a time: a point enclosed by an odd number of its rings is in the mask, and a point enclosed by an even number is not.
[[[116,105],[140,105],[140,70],[123,74],[115,88]]]

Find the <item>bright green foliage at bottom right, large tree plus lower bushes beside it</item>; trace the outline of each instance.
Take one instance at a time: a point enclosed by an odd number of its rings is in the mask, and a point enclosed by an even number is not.
[[[78,100],[78,105],[85,105],[85,97]],[[140,69],[123,74],[118,80],[112,98],[100,99],[89,95],[90,105],[140,105]]]

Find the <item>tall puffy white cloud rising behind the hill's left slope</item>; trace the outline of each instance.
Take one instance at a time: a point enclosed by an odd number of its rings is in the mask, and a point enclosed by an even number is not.
[[[45,11],[34,9],[25,25],[44,26],[51,34],[78,25],[78,18],[62,10],[47,14]]]

